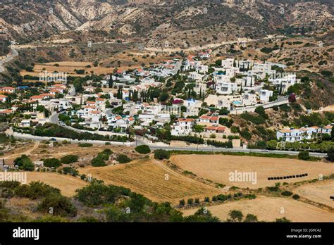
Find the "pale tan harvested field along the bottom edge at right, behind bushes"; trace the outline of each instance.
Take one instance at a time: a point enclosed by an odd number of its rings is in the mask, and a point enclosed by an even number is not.
[[[281,213],[282,208],[284,208],[284,213]],[[184,215],[192,215],[197,210],[198,208],[194,208],[182,212]],[[283,197],[257,197],[252,200],[210,206],[208,210],[221,220],[226,220],[231,210],[239,210],[242,211],[244,217],[250,213],[256,215],[261,221],[271,222],[285,217],[292,222],[334,222],[334,213],[330,211]]]

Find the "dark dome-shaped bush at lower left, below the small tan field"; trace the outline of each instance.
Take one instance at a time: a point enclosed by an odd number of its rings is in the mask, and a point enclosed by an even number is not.
[[[70,216],[77,215],[77,209],[65,196],[59,194],[49,194],[44,197],[41,203],[37,206],[37,210],[49,213],[52,211],[53,215]]]

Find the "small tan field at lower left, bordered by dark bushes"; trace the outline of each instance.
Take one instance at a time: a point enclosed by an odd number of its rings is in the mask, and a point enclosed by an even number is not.
[[[41,181],[61,190],[63,196],[74,196],[75,190],[85,187],[87,182],[78,177],[61,175],[56,172],[27,172],[27,183]]]

